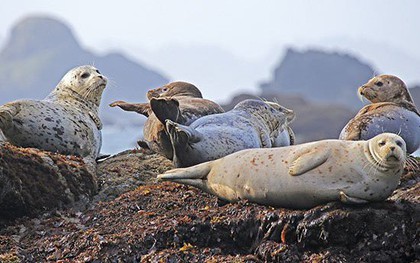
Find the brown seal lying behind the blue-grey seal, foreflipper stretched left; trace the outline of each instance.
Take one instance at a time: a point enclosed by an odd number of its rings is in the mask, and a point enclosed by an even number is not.
[[[141,146],[152,149],[166,158],[173,159],[172,144],[165,130],[167,119],[189,125],[194,120],[224,112],[217,103],[204,99],[200,90],[191,83],[176,81],[147,92],[148,103],[115,101],[111,107],[134,111],[147,117],[143,128]]]

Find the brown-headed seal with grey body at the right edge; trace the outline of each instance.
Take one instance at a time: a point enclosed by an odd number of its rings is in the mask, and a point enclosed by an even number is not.
[[[342,140],[368,140],[390,132],[400,135],[407,152],[420,147],[420,114],[405,83],[396,76],[380,75],[358,89],[372,104],[363,107],[340,133]]]

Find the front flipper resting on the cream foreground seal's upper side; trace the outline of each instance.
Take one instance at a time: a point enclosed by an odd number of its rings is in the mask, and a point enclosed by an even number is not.
[[[325,163],[328,157],[330,157],[329,150],[310,150],[309,152],[303,153],[292,162],[289,167],[289,174],[301,175],[306,173]]]

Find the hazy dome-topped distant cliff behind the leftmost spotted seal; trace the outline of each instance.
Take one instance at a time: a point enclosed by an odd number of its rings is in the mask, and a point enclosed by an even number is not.
[[[94,54],[82,47],[69,26],[54,18],[31,16],[16,23],[0,51],[0,103],[42,99],[69,69],[83,64],[95,65],[109,78],[101,105],[106,124],[137,119],[109,110],[111,101],[144,101],[148,89],[168,82],[121,53]]]

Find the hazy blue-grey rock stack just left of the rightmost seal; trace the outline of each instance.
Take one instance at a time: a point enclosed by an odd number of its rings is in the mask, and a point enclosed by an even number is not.
[[[265,94],[298,94],[311,102],[362,107],[357,87],[372,78],[372,67],[349,54],[288,49],[272,79],[261,85]]]

